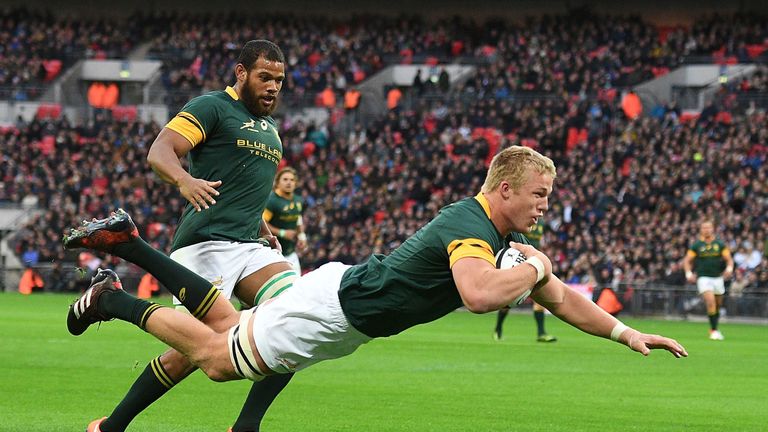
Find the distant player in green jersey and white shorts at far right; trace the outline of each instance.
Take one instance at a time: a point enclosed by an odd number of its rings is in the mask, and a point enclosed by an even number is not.
[[[709,338],[725,339],[717,325],[725,294],[724,278],[733,274],[733,257],[728,246],[715,237],[715,224],[712,221],[705,220],[699,226],[699,239],[688,248],[683,259],[683,270],[688,282],[696,282],[699,294],[707,306]]]

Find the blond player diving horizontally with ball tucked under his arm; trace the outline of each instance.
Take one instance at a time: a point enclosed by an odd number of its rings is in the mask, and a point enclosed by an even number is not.
[[[578,329],[610,338],[643,355],[665,349],[687,356],[677,341],[627,327],[552,274],[549,258],[513,243],[527,260],[497,269],[494,255],[527,232],[548,208],[556,176],[549,158],[514,146],[497,154],[481,191],[444,207],[390,255],[356,266],[331,262],[298,278],[294,287],[258,308],[237,312],[210,282],[156,251],[128,215],[84,222],[64,238],[127,259],[155,275],[189,310],[216,309],[216,331],[188,314],[137,299],[117,275],[102,271],[70,306],[67,328],[79,335],[112,318],[135,324],[184,353],[214,381],[268,380],[354,352],[373,338],[396,335],[464,305],[498,310],[530,293]],[[181,295],[184,293],[185,295]]]

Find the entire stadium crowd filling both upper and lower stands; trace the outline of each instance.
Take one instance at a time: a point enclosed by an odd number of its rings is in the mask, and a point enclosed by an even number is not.
[[[42,48],[30,44],[47,46],[45,37],[68,44],[60,52],[95,46],[125,52],[128,41],[142,40],[108,23],[58,22],[42,32],[48,20],[6,20],[0,47],[8,52],[22,44],[43,58]],[[477,193],[485,163],[499,148],[522,144],[552,157],[559,169],[544,244],[566,280],[683,284],[679,263],[696,222],[708,216],[736,254],[745,284],[768,287],[765,106],[731,112],[725,97],[698,118],[668,104],[628,119],[620,104],[621,88],[665,73],[683,55],[764,57],[746,51],[768,38],[764,19],[736,16],[725,21],[731,26],[704,20],[690,30],[667,29],[663,37],[637,18],[579,14],[483,25],[382,17],[246,20],[154,15],[137,16],[131,25],[147,24],[135,28],[153,35],[150,53],[166,60],[167,85],[192,94],[229,83],[238,44],[257,36],[280,41],[285,50],[289,100],[329,85],[341,91],[389,63],[479,64],[468,81],[414,97],[367,127],[281,119],[284,160],[297,168],[307,204],[306,270],[392,250],[442,205]],[[30,33],[41,37],[25,36]],[[111,38],[114,33],[122,36]],[[412,89],[416,96],[422,90]],[[765,94],[764,66],[723,91]],[[60,237],[86,215],[117,207],[133,215],[153,246],[167,250],[184,200],[145,161],[161,127],[100,112],[85,124],[35,119],[3,129],[2,154],[18,156],[0,161],[0,202],[47,209],[16,237],[22,261],[83,266],[107,259],[67,253]]]

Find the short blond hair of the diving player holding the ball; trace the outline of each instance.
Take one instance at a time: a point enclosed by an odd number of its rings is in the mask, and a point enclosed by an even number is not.
[[[513,190],[519,189],[525,184],[528,167],[533,168],[538,174],[549,174],[553,179],[557,176],[557,169],[552,159],[529,147],[511,146],[493,157],[481,191],[493,192],[498,189],[502,181],[509,182]]]

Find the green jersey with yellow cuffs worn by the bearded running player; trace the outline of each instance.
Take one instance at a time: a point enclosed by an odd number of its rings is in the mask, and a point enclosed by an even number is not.
[[[221,180],[216,204],[200,212],[187,203],[172,250],[208,240],[254,241],[283,145],[272,117],[257,117],[227,87],[189,101],[166,125],[191,144],[189,173]]]

